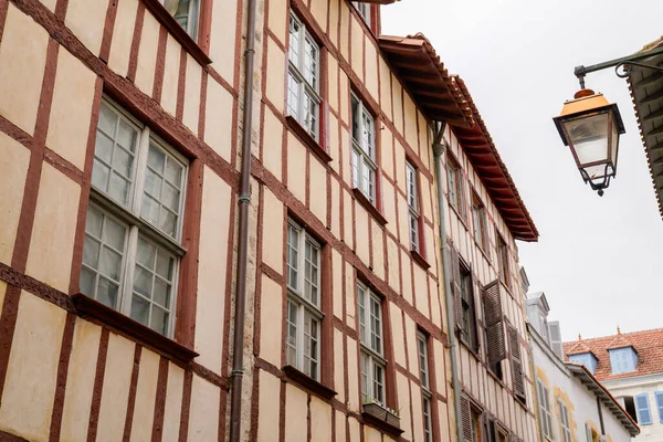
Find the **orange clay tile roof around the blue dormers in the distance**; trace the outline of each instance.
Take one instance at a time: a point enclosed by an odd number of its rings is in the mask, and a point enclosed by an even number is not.
[[[638,367],[635,371],[622,375],[612,375],[610,366],[609,348],[613,346],[615,339],[619,343],[629,343],[638,352]],[[602,336],[600,338],[582,339],[581,341],[564,343],[565,355],[577,355],[587,351],[576,351],[581,344],[593,352],[599,359],[594,376],[600,381],[632,378],[635,376],[663,373],[663,328],[653,330],[643,330],[634,333],[624,333],[621,335]],[[624,346],[612,347],[621,348]]]

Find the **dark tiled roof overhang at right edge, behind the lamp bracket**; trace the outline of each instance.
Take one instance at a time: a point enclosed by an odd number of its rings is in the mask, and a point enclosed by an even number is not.
[[[643,51],[660,46],[663,46],[663,39],[645,46]],[[662,66],[663,54],[639,62]],[[659,212],[663,217],[663,72],[631,65],[628,82],[659,202]]]

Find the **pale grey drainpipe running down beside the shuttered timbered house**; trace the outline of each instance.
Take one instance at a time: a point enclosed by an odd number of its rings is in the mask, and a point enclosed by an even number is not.
[[[448,327],[448,337],[449,337],[449,351],[451,352],[451,385],[453,387],[453,402],[454,402],[454,411],[456,418],[456,433],[459,442],[463,440],[463,425],[461,418],[461,385],[459,382],[459,359],[456,356],[456,339],[454,335],[455,329],[455,316],[454,312],[454,303],[451,294],[451,251],[449,249],[449,244],[446,243],[446,215],[444,213],[444,189],[442,188],[442,155],[446,150],[446,146],[442,143],[442,134],[444,128],[446,127],[446,123],[442,123],[439,127],[439,131],[435,136],[435,143],[433,143],[433,154],[435,156],[435,182],[438,185],[438,218],[440,222],[438,225],[440,227],[440,241],[442,242],[442,267],[444,271],[444,294],[446,298],[446,323]]]

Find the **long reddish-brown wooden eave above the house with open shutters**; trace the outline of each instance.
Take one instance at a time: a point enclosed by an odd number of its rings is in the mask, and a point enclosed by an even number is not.
[[[534,221],[506,165],[499,157],[493,138],[472,99],[472,95],[470,95],[462,78],[454,76],[452,80],[457,84],[470,104],[473,118],[476,122],[473,127],[453,125],[453,133],[513,236],[520,241],[538,241],[538,230],[534,225]]]

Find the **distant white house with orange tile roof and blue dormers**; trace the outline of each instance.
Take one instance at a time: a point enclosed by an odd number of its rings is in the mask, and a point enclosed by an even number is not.
[[[564,344],[570,361],[585,365],[636,419],[635,441],[663,441],[663,328]]]

